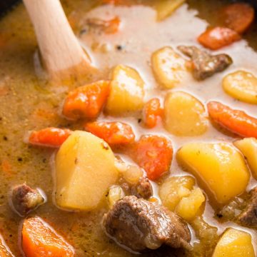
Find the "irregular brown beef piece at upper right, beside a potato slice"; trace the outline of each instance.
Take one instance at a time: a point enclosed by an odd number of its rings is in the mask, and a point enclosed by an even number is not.
[[[233,61],[227,54],[211,55],[196,46],[178,46],[178,50],[191,58],[193,77],[202,81],[216,72],[224,71]]]

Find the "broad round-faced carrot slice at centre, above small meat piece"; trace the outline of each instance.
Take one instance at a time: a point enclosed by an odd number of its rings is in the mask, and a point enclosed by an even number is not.
[[[171,141],[163,136],[141,136],[132,153],[133,159],[155,181],[169,171],[173,157]]]

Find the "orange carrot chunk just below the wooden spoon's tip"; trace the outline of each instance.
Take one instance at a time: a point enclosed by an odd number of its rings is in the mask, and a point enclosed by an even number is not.
[[[110,93],[110,81],[96,81],[69,92],[64,101],[63,114],[67,119],[95,119]]]

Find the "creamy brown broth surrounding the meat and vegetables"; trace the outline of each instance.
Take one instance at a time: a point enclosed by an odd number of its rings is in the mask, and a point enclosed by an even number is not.
[[[97,74],[89,76],[82,82],[108,79],[112,67],[125,64],[136,69],[146,82],[146,100],[153,96],[163,99],[166,91],[159,89],[153,77],[150,66],[151,54],[163,46],[175,48],[181,44],[197,45],[197,36],[208,26],[204,19],[215,24],[216,13],[213,10],[216,5],[226,4],[226,1],[190,0],[168,19],[158,23],[156,12],[150,6],[151,1],[131,2],[137,3],[132,6],[97,6],[96,1],[62,1],[66,14],[75,21],[76,35],[89,52],[94,65],[99,68]],[[122,21],[122,29],[118,34],[83,31],[83,21],[86,18],[111,19],[114,16],[119,16]],[[253,43],[257,38],[253,30],[246,34],[246,39],[217,51],[229,54],[233,58],[233,65],[229,69],[201,83],[189,78],[174,90],[189,92],[203,104],[218,99],[235,109],[243,109],[248,114],[256,116],[256,106],[232,99],[221,87],[223,76],[232,71],[243,69],[257,74],[257,52]],[[8,192],[11,186],[27,182],[31,187],[42,188],[48,199],[46,204],[31,215],[44,218],[56,231],[62,233],[76,249],[76,256],[133,256],[132,253],[117,246],[102,231],[101,218],[108,211],[105,201],[101,204],[101,208],[90,212],[72,213],[56,208],[52,196],[54,181],[50,165],[55,151],[24,143],[24,135],[31,130],[44,129],[48,126],[82,129],[82,124],[72,124],[59,115],[60,103],[72,85],[56,88],[41,76],[41,68],[36,66],[38,49],[34,30],[22,4],[1,19],[0,47],[0,232],[6,244],[15,256],[21,256],[18,231],[22,218],[9,207]],[[101,114],[99,120],[125,121],[133,126],[136,138],[146,133],[163,134],[171,138],[174,152],[191,141],[235,140],[235,136],[218,131],[211,124],[202,136],[178,137],[168,133],[161,125],[152,131],[143,129],[142,126],[138,126],[137,116],[111,117]],[[181,174],[186,172],[178,166],[176,158],[173,158],[171,175]],[[153,186],[155,193],[158,193],[157,183],[153,183]],[[256,181],[251,178],[248,190],[253,186],[256,186]],[[228,226],[238,227],[236,223],[219,223],[213,218],[214,211],[213,206],[207,201],[203,216],[209,224],[218,228],[219,234]],[[253,245],[257,246],[256,232],[253,229],[240,228],[252,234]],[[197,239],[193,238],[193,241]],[[212,251],[213,248],[210,248],[206,252],[192,254],[211,256]],[[257,248],[255,251],[257,253]],[[166,249],[153,252],[151,256],[163,256],[163,254],[173,256],[173,253]],[[174,256],[184,256],[181,251],[174,251],[174,254]],[[188,254],[185,256],[190,256]]]

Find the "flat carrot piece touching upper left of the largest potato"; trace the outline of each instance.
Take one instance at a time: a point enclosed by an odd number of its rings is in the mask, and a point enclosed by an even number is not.
[[[69,129],[47,128],[40,131],[32,131],[29,135],[29,143],[34,146],[60,147],[71,135]]]

